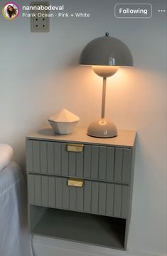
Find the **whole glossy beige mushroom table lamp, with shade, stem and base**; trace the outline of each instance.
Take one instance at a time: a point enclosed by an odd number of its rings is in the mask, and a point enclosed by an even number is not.
[[[106,33],[105,36],[94,39],[85,46],[80,55],[80,65],[92,66],[93,71],[103,78],[102,115],[99,120],[90,124],[87,134],[99,138],[117,136],[114,123],[104,117],[107,77],[113,76],[120,66],[133,66],[131,51],[122,41]]]

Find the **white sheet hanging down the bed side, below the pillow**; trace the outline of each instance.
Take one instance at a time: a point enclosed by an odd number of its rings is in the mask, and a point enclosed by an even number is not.
[[[26,185],[14,162],[0,171],[0,255],[32,256],[27,225]]]

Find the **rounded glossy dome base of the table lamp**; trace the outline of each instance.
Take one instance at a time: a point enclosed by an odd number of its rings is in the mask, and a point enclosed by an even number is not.
[[[114,125],[114,123],[101,118],[90,124],[90,126],[87,128],[87,135],[96,138],[112,138],[116,137],[118,133],[117,127]]]

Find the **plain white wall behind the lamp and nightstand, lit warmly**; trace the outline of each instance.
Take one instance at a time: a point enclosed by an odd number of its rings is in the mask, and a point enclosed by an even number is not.
[[[153,18],[133,21],[114,18],[117,1],[50,3],[91,18],[51,19],[51,31],[36,34],[29,19],[0,16],[0,142],[13,145],[24,165],[25,136],[48,116],[68,108],[85,126],[99,117],[102,79],[76,64],[85,44],[106,31],[124,41],[135,68],[108,79],[106,112],[118,128],[138,131],[128,250],[166,255],[166,19],[157,11],[165,0],[154,1]]]

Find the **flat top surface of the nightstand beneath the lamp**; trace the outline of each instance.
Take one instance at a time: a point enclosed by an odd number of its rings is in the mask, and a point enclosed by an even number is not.
[[[87,135],[87,127],[76,126],[73,133],[60,135],[54,133],[51,126],[48,125],[43,126],[35,133],[31,133],[27,136],[27,138],[33,140],[49,140],[68,143],[85,143],[109,146],[113,145],[131,148],[134,147],[136,130],[118,130],[118,135],[114,138],[95,138]]]

